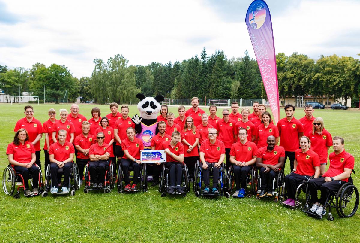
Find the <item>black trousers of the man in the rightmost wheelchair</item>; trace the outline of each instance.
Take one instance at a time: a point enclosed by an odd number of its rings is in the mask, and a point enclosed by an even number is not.
[[[312,203],[320,203],[325,205],[325,201],[331,191],[339,190],[345,181],[329,181],[325,182],[325,177],[318,177],[309,181],[310,201]],[[320,201],[318,199],[318,190],[321,191]]]

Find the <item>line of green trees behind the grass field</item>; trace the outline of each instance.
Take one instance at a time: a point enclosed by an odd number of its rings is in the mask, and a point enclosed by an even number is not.
[[[286,102],[289,97],[311,94],[315,100],[352,98],[360,94],[360,61],[352,57],[320,56],[315,60],[294,52],[276,55],[279,97]],[[94,59],[90,77],[73,77],[64,65],[35,63],[31,69],[8,70],[0,65],[0,89],[10,95],[31,91],[34,96],[44,96],[46,102],[58,102],[68,88],[69,102],[82,96],[82,101],[96,103],[134,103],[135,94],[145,96],[162,94],[166,98],[266,98],[260,71],[248,52],[243,57],[228,59],[222,50],[208,55],[203,48],[182,62],[162,64],[152,62],[147,66],[128,65],[129,60],[120,54],[107,60]],[[9,101],[10,102],[10,101]]]

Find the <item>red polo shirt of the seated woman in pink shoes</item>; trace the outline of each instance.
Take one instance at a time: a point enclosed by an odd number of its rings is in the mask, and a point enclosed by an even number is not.
[[[295,159],[297,161],[296,171],[294,173],[301,176],[313,176],[315,174],[315,166],[320,166],[319,155],[312,149],[307,150],[305,153],[302,149],[295,151]]]

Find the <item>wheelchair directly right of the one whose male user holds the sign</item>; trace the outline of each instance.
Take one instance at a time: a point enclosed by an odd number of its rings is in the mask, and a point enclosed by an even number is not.
[[[212,180],[212,167],[210,169],[210,181]],[[203,184],[203,175],[202,175],[202,167],[200,166],[199,160],[195,164],[195,178],[193,184],[193,192],[195,192],[195,196],[198,198],[203,197],[216,197],[216,196],[226,196],[226,198],[230,198],[230,193],[226,190],[226,181],[227,181],[227,174],[226,174],[226,163],[222,162],[222,166],[219,169],[219,182],[217,185],[217,189],[219,190],[219,194],[204,194],[204,187],[202,188]],[[220,188],[219,188],[220,185]]]

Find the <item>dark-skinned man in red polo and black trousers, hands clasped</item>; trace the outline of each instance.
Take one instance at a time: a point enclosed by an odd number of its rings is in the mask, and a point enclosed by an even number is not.
[[[285,150],[276,145],[274,136],[267,137],[267,147],[257,151],[256,166],[260,168],[260,194],[259,197],[273,196],[273,181],[285,160]]]

